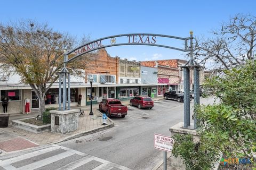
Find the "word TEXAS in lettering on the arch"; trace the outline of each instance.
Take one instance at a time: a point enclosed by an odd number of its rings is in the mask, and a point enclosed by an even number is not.
[[[127,36],[128,43],[143,43],[143,44],[155,44],[156,36],[143,36],[143,35],[134,35]]]

